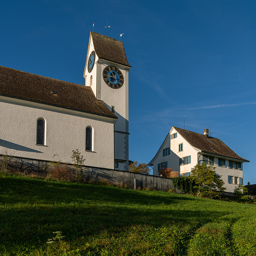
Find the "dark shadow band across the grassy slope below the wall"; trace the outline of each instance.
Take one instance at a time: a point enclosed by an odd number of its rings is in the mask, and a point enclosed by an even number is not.
[[[121,233],[136,225],[198,226],[226,214],[197,205],[187,210],[200,199],[165,192],[17,177],[0,178],[0,188],[0,240],[7,247],[45,243],[54,231],[74,239],[104,230]]]

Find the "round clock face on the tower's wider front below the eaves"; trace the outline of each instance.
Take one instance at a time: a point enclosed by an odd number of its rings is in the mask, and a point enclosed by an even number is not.
[[[122,72],[114,66],[104,68],[102,75],[105,83],[113,89],[118,89],[124,84]]]

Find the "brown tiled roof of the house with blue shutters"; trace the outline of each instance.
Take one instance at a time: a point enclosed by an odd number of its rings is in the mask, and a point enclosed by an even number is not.
[[[203,152],[223,155],[226,157],[232,157],[235,159],[243,160],[249,162],[248,160],[239,157],[230,147],[228,147],[224,142],[220,139],[208,137],[206,138],[205,135],[199,134],[196,132],[191,132],[190,130],[184,130],[178,127],[174,127],[177,132],[182,135],[182,137],[187,140],[187,142],[192,145],[193,147],[200,149]]]

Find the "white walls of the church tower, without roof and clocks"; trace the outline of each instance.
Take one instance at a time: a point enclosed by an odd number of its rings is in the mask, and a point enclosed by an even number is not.
[[[94,95],[98,100],[104,101],[106,106],[118,117],[114,125],[114,155],[115,169],[129,170],[129,68],[128,66],[99,58],[96,52],[95,64],[91,72],[88,71],[89,56],[95,51],[92,35],[90,34],[89,46],[84,68],[84,79],[86,86],[91,86]],[[103,70],[107,66],[118,68],[123,77],[124,83],[121,88],[113,89],[104,81]],[[92,78],[92,85],[89,81]]]

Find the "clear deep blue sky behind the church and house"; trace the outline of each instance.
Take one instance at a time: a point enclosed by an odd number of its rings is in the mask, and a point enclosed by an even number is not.
[[[0,65],[83,84],[89,32],[124,33],[129,158],[148,163],[172,126],[221,139],[256,183],[256,2],[2,1]]]

